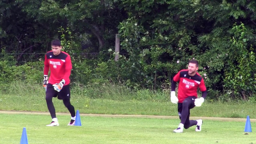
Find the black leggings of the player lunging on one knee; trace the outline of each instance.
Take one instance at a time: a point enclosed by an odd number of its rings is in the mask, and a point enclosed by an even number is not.
[[[196,97],[187,97],[182,103],[178,103],[178,113],[181,123],[184,124],[184,128],[188,129],[191,126],[197,125],[196,120],[189,120],[190,109],[195,107],[194,100]]]

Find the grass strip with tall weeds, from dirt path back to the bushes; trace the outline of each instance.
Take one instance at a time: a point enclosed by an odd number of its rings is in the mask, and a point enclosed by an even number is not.
[[[200,93],[199,93],[200,95]],[[62,101],[53,99],[56,112],[68,112]],[[74,86],[71,103],[81,113],[177,116],[177,104],[170,101],[169,91],[153,93],[132,91],[122,86]],[[22,81],[0,89],[0,110],[48,112],[45,90],[40,84]],[[212,101],[206,98],[201,107],[191,110],[191,116],[223,118],[256,118],[256,101]]]

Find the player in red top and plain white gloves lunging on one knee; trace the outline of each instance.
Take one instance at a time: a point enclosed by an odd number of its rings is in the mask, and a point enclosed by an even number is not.
[[[197,60],[191,60],[188,63],[188,69],[179,71],[173,78],[171,84],[171,102],[178,103],[178,115],[181,120],[177,129],[174,132],[183,132],[183,128],[188,129],[196,125],[196,131],[202,130],[203,120],[189,120],[190,109],[195,106],[199,107],[205,101],[206,87],[202,76],[197,73],[198,70]],[[176,82],[178,86],[178,98],[175,96]],[[197,98],[197,88],[202,91],[202,97]]]

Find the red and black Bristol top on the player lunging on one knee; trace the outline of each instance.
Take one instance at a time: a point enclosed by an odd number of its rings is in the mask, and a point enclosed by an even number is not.
[[[189,96],[197,97],[197,88],[200,91],[206,91],[205,82],[199,73],[194,76],[188,75],[188,69],[179,71],[173,79],[175,82],[179,81],[178,86],[178,100],[182,103],[185,98]]]

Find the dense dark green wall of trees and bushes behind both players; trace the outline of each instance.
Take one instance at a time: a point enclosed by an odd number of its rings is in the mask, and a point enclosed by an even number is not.
[[[246,99],[256,90],[255,10],[248,0],[2,0],[1,55],[19,53],[15,64],[38,61],[35,53],[59,38],[72,54],[74,81],[150,90],[169,89],[197,59],[210,97]],[[103,54],[115,49],[117,33],[121,51]],[[100,54],[81,54],[88,52]]]

